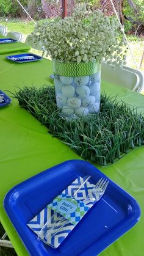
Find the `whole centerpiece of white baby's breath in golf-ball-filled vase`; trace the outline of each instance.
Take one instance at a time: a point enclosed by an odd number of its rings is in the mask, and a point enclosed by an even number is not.
[[[95,114],[100,106],[101,62],[125,64],[120,25],[100,10],[85,7],[63,20],[38,23],[32,37],[51,56],[57,108],[64,117]]]

